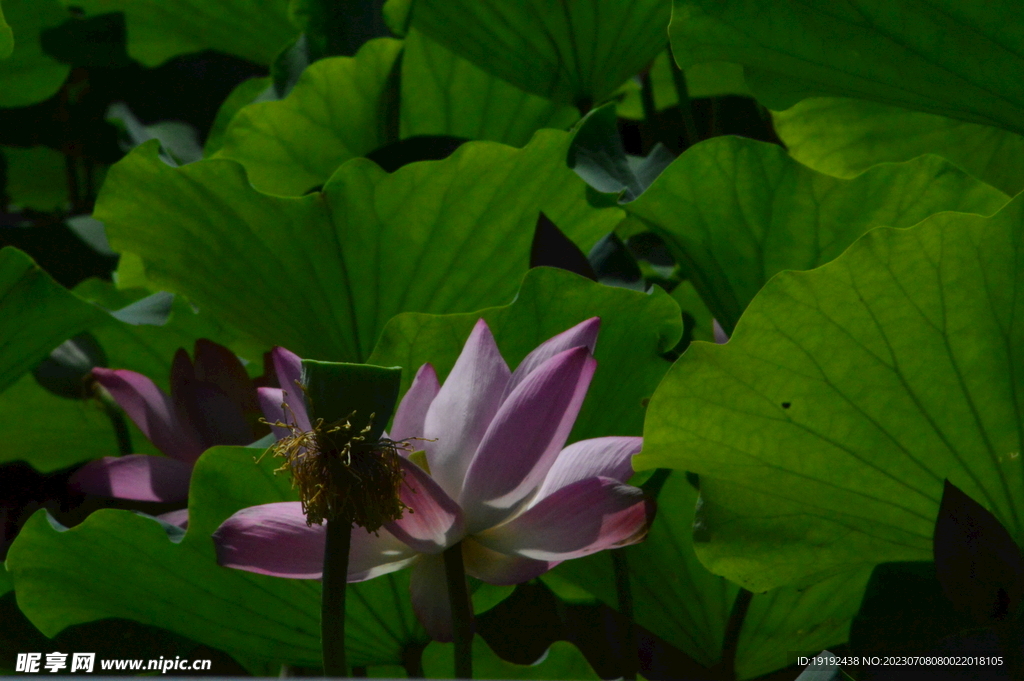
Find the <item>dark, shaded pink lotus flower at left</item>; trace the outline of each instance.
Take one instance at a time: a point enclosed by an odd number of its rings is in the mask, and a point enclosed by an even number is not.
[[[183,348],[171,365],[171,394],[132,371],[93,369],[92,374],[139,430],[166,457],[132,454],[89,462],[70,483],[87,494],[142,502],[184,502],[196,460],[216,444],[249,444],[266,434],[259,423],[256,384],[222,345],[196,341],[196,361]],[[187,511],[161,518],[174,524]]]

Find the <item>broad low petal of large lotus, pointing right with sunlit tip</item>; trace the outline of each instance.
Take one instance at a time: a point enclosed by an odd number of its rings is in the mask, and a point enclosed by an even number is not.
[[[475,539],[500,553],[567,560],[641,541],[653,510],[653,502],[639,487],[591,477],[562,487]]]

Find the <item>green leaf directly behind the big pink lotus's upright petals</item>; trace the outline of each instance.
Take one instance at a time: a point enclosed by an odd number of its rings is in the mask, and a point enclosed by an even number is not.
[[[535,347],[592,316],[601,317],[597,373],[569,441],[639,435],[644,402],[665,375],[660,353],[682,334],[679,307],[660,289],[647,295],[595,284],[563,269],[529,270],[515,301],[468,314],[401,314],[385,327],[371,364],[400,366],[402,389],[426,363],[443,377],[476,321],[487,322],[502,356],[515,368]]]

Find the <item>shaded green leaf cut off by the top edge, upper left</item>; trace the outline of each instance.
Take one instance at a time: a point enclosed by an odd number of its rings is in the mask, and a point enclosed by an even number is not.
[[[8,0],[9,1],[9,0]],[[171,57],[214,49],[269,65],[299,29],[289,0],[60,0],[87,15],[124,12],[128,54],[158,67]]]

